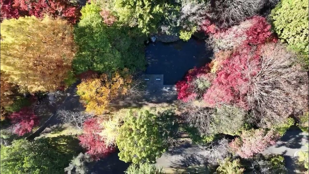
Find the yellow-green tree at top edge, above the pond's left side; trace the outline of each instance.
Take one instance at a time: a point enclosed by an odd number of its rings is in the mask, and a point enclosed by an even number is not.
[[[165,1],[115,0],[113,8],[119,22],[130,27],[137,26],[143,34],[155,33],[163,16]]]

